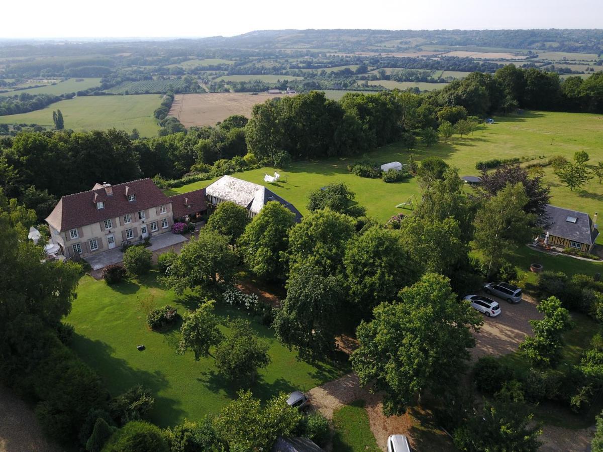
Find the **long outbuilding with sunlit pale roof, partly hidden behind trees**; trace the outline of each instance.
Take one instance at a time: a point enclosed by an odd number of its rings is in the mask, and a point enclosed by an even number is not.
[[[249,218],[253,218],[269,201],[280,202],[286,209],[295,214],[295,221],[300,222],[302,215],[290,202],[285,201],[266,187],[253,182],[244,181],[232,176],[223,176],[205,188],[207,207],[215,209],[225,201],[231,201],[247,209]]]

